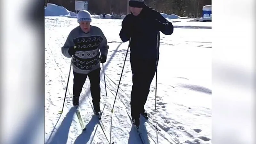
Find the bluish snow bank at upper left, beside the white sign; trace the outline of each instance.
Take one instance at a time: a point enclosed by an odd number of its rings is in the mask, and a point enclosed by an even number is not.
[[[63,6],[48,3],[44,7],[44,16],[76,16],[76,13],[68,11]]]

